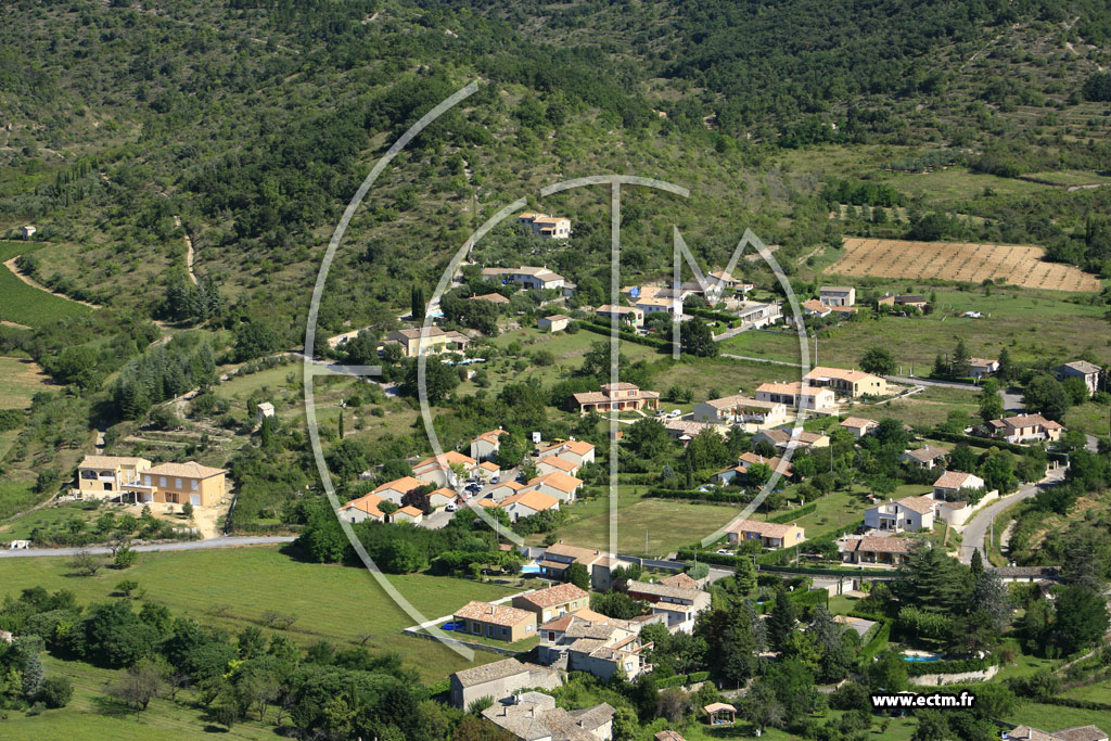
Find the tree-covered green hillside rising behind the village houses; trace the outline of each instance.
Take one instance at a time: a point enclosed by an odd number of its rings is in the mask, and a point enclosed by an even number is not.
[[[474,226],[556,178],[643,172],[697,190],[682,210],[630,201],[625,267],[640,272],[665,264],[667,223],[708,260],[739,226],[784,254],[835,241],[815,198],[831,172],[789,171],[785,151],[871,147],[888,163],[1001,174],[1111,167],[1099,47],[1111,11],[1097,0],[471,4],[6,3],[0,234],[37,224],[49,244],[24,269],[70,296],[229,329],[257,320],[290,347],[370,163],[473,79],[480,92],[398,158],[352,222],[324,332],[396,321]],[[1072,254],[1069,230],[1103,198],[1073,199],[1045,241]],[[575,218],[577,252],[542,259],[599,277],[605,261],[580,258],[607,249],[604,202],[544,208]],[[978,236],[1032,239],[1021,221],[983,223],[1022,231]],[[184,284],[187,233],[203,300]],[[482,257],[519,247],[494,236]]]

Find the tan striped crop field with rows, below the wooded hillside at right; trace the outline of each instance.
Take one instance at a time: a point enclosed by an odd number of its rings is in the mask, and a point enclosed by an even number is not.
[[[910,242],[898,239],[844,240],[844,254],[825,269],[839,276],[877,276],[964,283],[997,283],[1054,291],[1099,291],[1100,281],[1072,266],[1044,262],[1038,247],[974,242]]]

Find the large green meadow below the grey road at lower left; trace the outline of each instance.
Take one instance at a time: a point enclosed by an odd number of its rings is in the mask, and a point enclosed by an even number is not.
[[[238,631],[263,624],[266,612],[298,615],[288,634],[301,644],[361,642],[372,651],[396,651],[429,681],[442,679],[467,661],[431,641],[410,638],[401,629],[413,624],[363,569],[303,563],[274,547],[141,553],[126,572],[102,569],[96,577],[72,577],[70,559],[0,559],[2,592],[18,595],[28,587],[68,589],[80,602],[110,598],[121,579],[133,579],[147,599],[164,603],[176,614]],[[451,613],[469,600],[491,600],[514,590],[447,577],[410,574],[390,582],[429,618]],[[484,663],[491,654],[479,652]]]

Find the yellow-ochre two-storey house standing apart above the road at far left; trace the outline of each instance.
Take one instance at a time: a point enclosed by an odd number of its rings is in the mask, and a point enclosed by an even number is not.
[[[74,494],[121,503],[214,507],[227,494],[227,473],[194,461],[152,464],[131,455],[86,455],[78,464]]]

